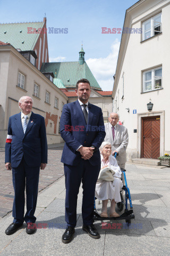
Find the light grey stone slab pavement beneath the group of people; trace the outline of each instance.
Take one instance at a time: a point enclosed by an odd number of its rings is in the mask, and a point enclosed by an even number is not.
[[[55,152],[55,150],[53,150]],[[142,166],[143,168],[143,166]],[[82,230],[82,188],[78,195],[77,227],[73,241],[70,244],[63,244],[61,241],[65,229],[64,201],[65,185],[64,177],[61,177],[52,185],[41,191],[38,195],[39,205],[36,209],[37,227],[46,223],[56,225],[55,228],[39,228],[33,235],[25,233],[25,224],[15,234],[6,236],[4,231],[12,222],[12,214],[6,215],[0,220],[0,253],[3,256],[27,256],[27,255],[147,255],[147,256],[168,256],[170,250],[170,207],[169,191],[170,183],[163,181],[164,175],[160,170],[145,169],[143,173],[149,174],[148,179],[138,179],[143,169],[127,165],[126,177],[131,191],[132,204],[135,220],[131,220],[131,226],[125,225],[125,220],[95,221],[101,238],[92,239]],[[157,172],[158,171],[158,172]],[[153,179],[152,174],[157,173],[160,179]],[[133,175],[137,179],[129,178]],[[134,177],[134,176],[133,176]],[[143,176],[144,177],[144,176]],[[139,183],[138,183],[139,182]],[[151,182],[151,183],[147,183]],[[157,184],[159,183],[159,186]],[[151,185],[152,184],[152,185]],[[165,186],[167,185],[167,186]],[[142,190],[143,187],[143,190]],[[157,189],[156,189],[157,188]],[[61,198],[62,197],[62,198]],[[108,203],[109,212],[110,202]],[[100,213],[101,204],[96,203]],[[103,228],[102,222],[107,222],[107,229]],[[112,228],[113,223],[121,228]],[[59,228],[57,225],[60,225]],[[116,226],[117,227],[117,226]],[[5,247],[6,246],[6,247]],[[2,252],[1,252],[2,250]]]

